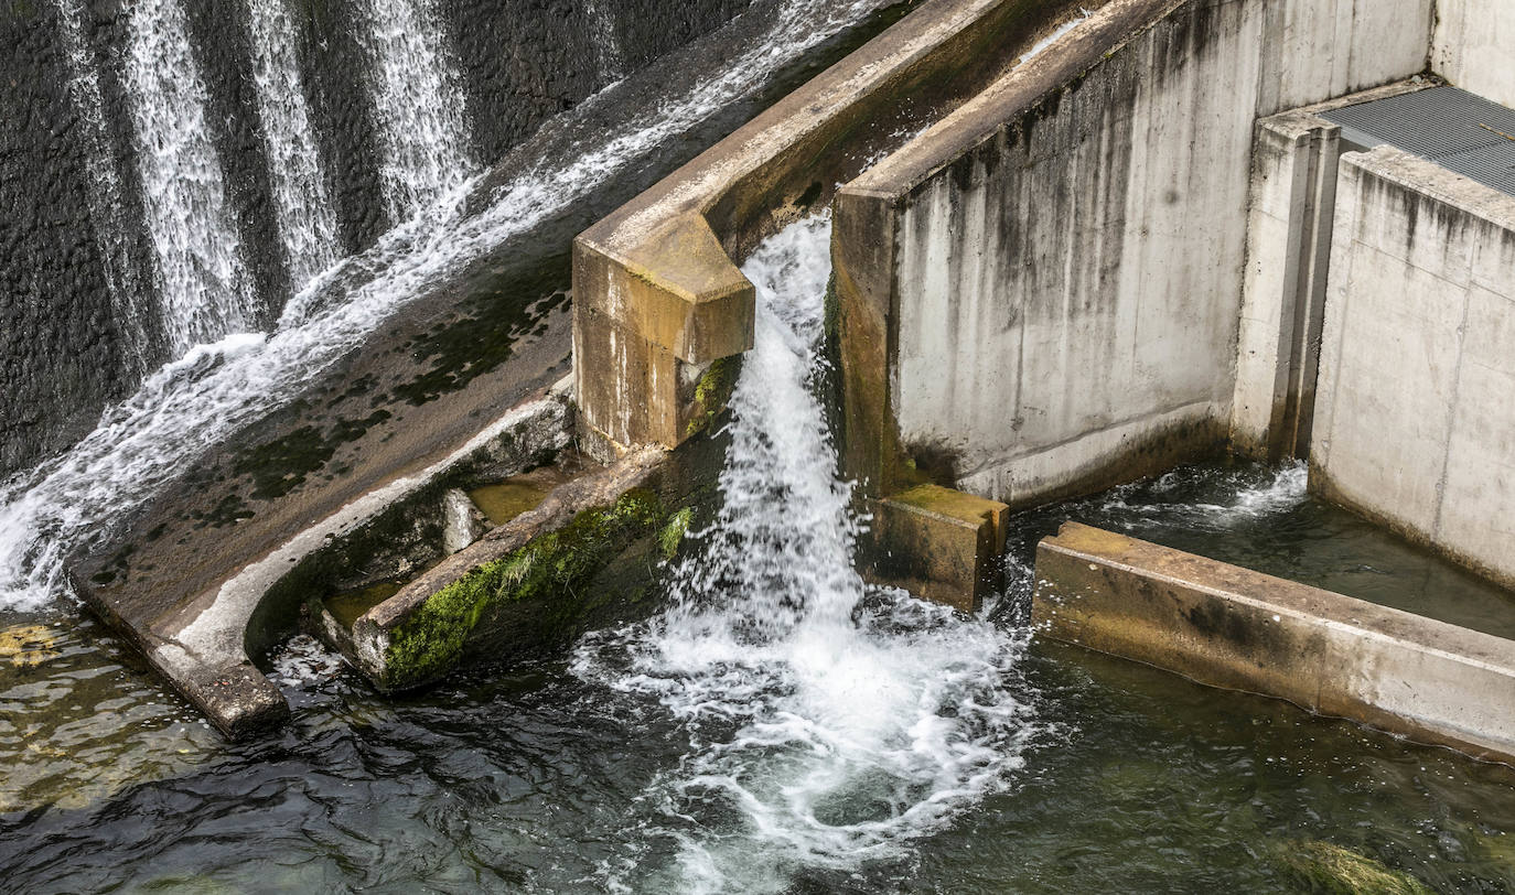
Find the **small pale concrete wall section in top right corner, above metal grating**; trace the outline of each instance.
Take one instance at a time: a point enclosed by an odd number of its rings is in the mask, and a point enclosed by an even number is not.
[[[1515,106],[1515,3],[1436,0],[1430,64],[1462,89]]]

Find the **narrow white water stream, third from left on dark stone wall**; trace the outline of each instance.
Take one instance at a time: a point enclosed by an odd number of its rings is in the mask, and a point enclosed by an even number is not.
[[[248,0],[253,79],[268,182],[289,285],[298,292],[341,253],[336,210],[327,197],[288,0]]]

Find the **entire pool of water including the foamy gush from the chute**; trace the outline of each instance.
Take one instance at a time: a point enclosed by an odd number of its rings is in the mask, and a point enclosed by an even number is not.
[[[1297,892],[1336,848],[1515,890],[1515,769],[1017,627],[1065,518],[1501,619],[1501,592],[1312,503],[1298,468],[1024,513],[976,618],[864,589],[815,398],[827,244],[806,221],[744,268],[724,515],[645,619],[392,700],[298,638],[268,657],[292,722],[224,744],[73,610],[0,616],[3,887]]]

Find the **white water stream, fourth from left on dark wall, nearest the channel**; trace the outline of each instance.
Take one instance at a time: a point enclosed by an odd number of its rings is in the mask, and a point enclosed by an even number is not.
[[[361,0],[371,65],[380,180],[392,223],[429,207],[473,174],[461,79],[427,0]]]

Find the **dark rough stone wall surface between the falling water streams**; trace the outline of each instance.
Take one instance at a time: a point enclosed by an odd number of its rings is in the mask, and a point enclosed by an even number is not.
[[[212,139],[251,279],[271,320],[288,292],[255,101],[245,0],[182,0]],[[342,247],[395,221],[379,151],[356,0],[286,0]],[[435,0],[473,154],[492,162],[553,115],[730,20],[748,0]],[[0,477],[89,430],[106,401],[164,360],[120,61],[127,0],[80,0],[105,101],[105,156],[123,191],[124,248],[142,294],[112,294],[91,210],[91,147],[68,92],[58,0],[0,3]],[[130,315],[124,309],[136,307]],[[138,359],[141,357],[141,360]]]

